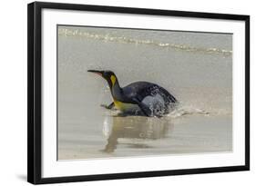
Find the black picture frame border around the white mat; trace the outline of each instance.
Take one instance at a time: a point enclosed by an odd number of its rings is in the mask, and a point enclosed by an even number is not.
[[[245,164],[240,166],[210,167],[174,171],[144,171],[115,174],[97,174],[42,178],[42,9],[109,12],[118,14],[164,15],[209,19],[239,20],[245,22]],[[34,184],[69,181],[99,181],[180,174],[250,170],[250,16],[199,12],[142,9],[100,5],[74,5],[35,2],[27,6],[27,181]]]

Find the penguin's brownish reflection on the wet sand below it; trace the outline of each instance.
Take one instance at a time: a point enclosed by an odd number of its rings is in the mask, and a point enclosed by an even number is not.
[[[122,116],[112,117],[111,122],[105,123],[110,132],[104,152],[114,152],[118,148],[118,139],[142,139],[157,140],[165,138],[173,125],[167,118],[148,118],[144,116]],[[108,120],[107,120],[108,121]],[[110,128],[110,129],[109,129]],[[132,143],[129,148],[147,148],[145,143]]]

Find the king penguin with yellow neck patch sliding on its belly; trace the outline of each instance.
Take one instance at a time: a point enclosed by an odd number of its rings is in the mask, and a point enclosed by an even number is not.
[[[87,72],[97,73],[107,80],[114,101],[105,106],[108,109],[115,107],[124,113],[140,110],[148,117],[161,117],[178,103],[173,95],[156,83],[135,82],[120,87],[118,78],[112,71]]]

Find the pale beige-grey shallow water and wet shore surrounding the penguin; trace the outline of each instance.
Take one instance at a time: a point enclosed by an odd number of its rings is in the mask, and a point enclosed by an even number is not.
[[[107,82],[158,83],[179,100],[162,118],[124,116]],[[58,27],[58,159],[232,150],[232,35]]]

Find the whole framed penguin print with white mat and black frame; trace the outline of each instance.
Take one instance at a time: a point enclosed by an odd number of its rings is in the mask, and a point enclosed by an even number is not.
[[[250,16],[28,5],[29,182],[250,169]]]

